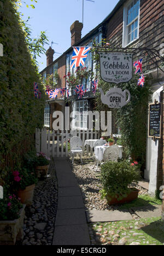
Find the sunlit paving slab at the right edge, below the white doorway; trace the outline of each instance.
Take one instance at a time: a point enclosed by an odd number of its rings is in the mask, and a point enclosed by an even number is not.
[[[161,205],[150,205],[131,208],[140,218],[160,217],[162,212]]]

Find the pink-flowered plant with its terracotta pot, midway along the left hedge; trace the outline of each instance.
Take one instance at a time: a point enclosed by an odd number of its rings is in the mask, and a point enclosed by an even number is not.
[[[10,172],[10,190],[20,197],[21,203],[31,204],[34,187],[38,182],[34,170],[22,167],[20,170]]]

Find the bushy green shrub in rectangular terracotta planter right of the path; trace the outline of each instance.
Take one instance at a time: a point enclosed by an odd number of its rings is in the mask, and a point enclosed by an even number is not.
[[[138,163],[131,165],[127,160],[104,163],[101,166],[102,197],[106,197],[109,205],[137,199],[139,191],[129,185],[139,178]]]

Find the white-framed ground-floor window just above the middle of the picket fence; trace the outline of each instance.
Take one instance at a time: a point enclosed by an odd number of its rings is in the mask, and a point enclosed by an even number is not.
[[[76,116],[78,115],[78,109],[77,109],[77,104],[80,104],[81,102],[83,102],[83,108],[84,108],[84,104],[86,104],[86,110],[83,110],[83,127],[77,126],[75,125],[77,121],[80,121],[79,118],[77,119]],[[72,120],[72,128],[73,129],[77,129],[77,130],[87,130],[87,106],[88,106],[88,101],[87,100],[79,100],[79,101],[74,101],[73,104],[73,120]],[[80,115],[79,115],[80,116]],[[86,121],[84,120],[84,117],[86,118]],[[86,125],[84,126],[84,123],[86,123]]]

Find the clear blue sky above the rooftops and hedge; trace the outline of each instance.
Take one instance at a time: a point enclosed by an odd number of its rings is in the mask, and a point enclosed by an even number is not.
[[[94,0],[90,2],[84,0],[84,27],[82,36],[84,37],[99,23],[101,23],[114,9],[119,0]],[[83,0],[38,0],[37,3],[26,0],[28,5],[34,4],[35,9],[27,8],[26,4],[21,7],[24,20],[30,16],[28,24],[32,29],[32,36],[38,36],[40,31],[46,31],[50,45],[45,45],[45,49],[53,44],[55,50],[54,60],[64,53],[71,46],[70,26],[75,20],[82,22]],[[46,67],[46,56],[38,58],[39,71]]]

